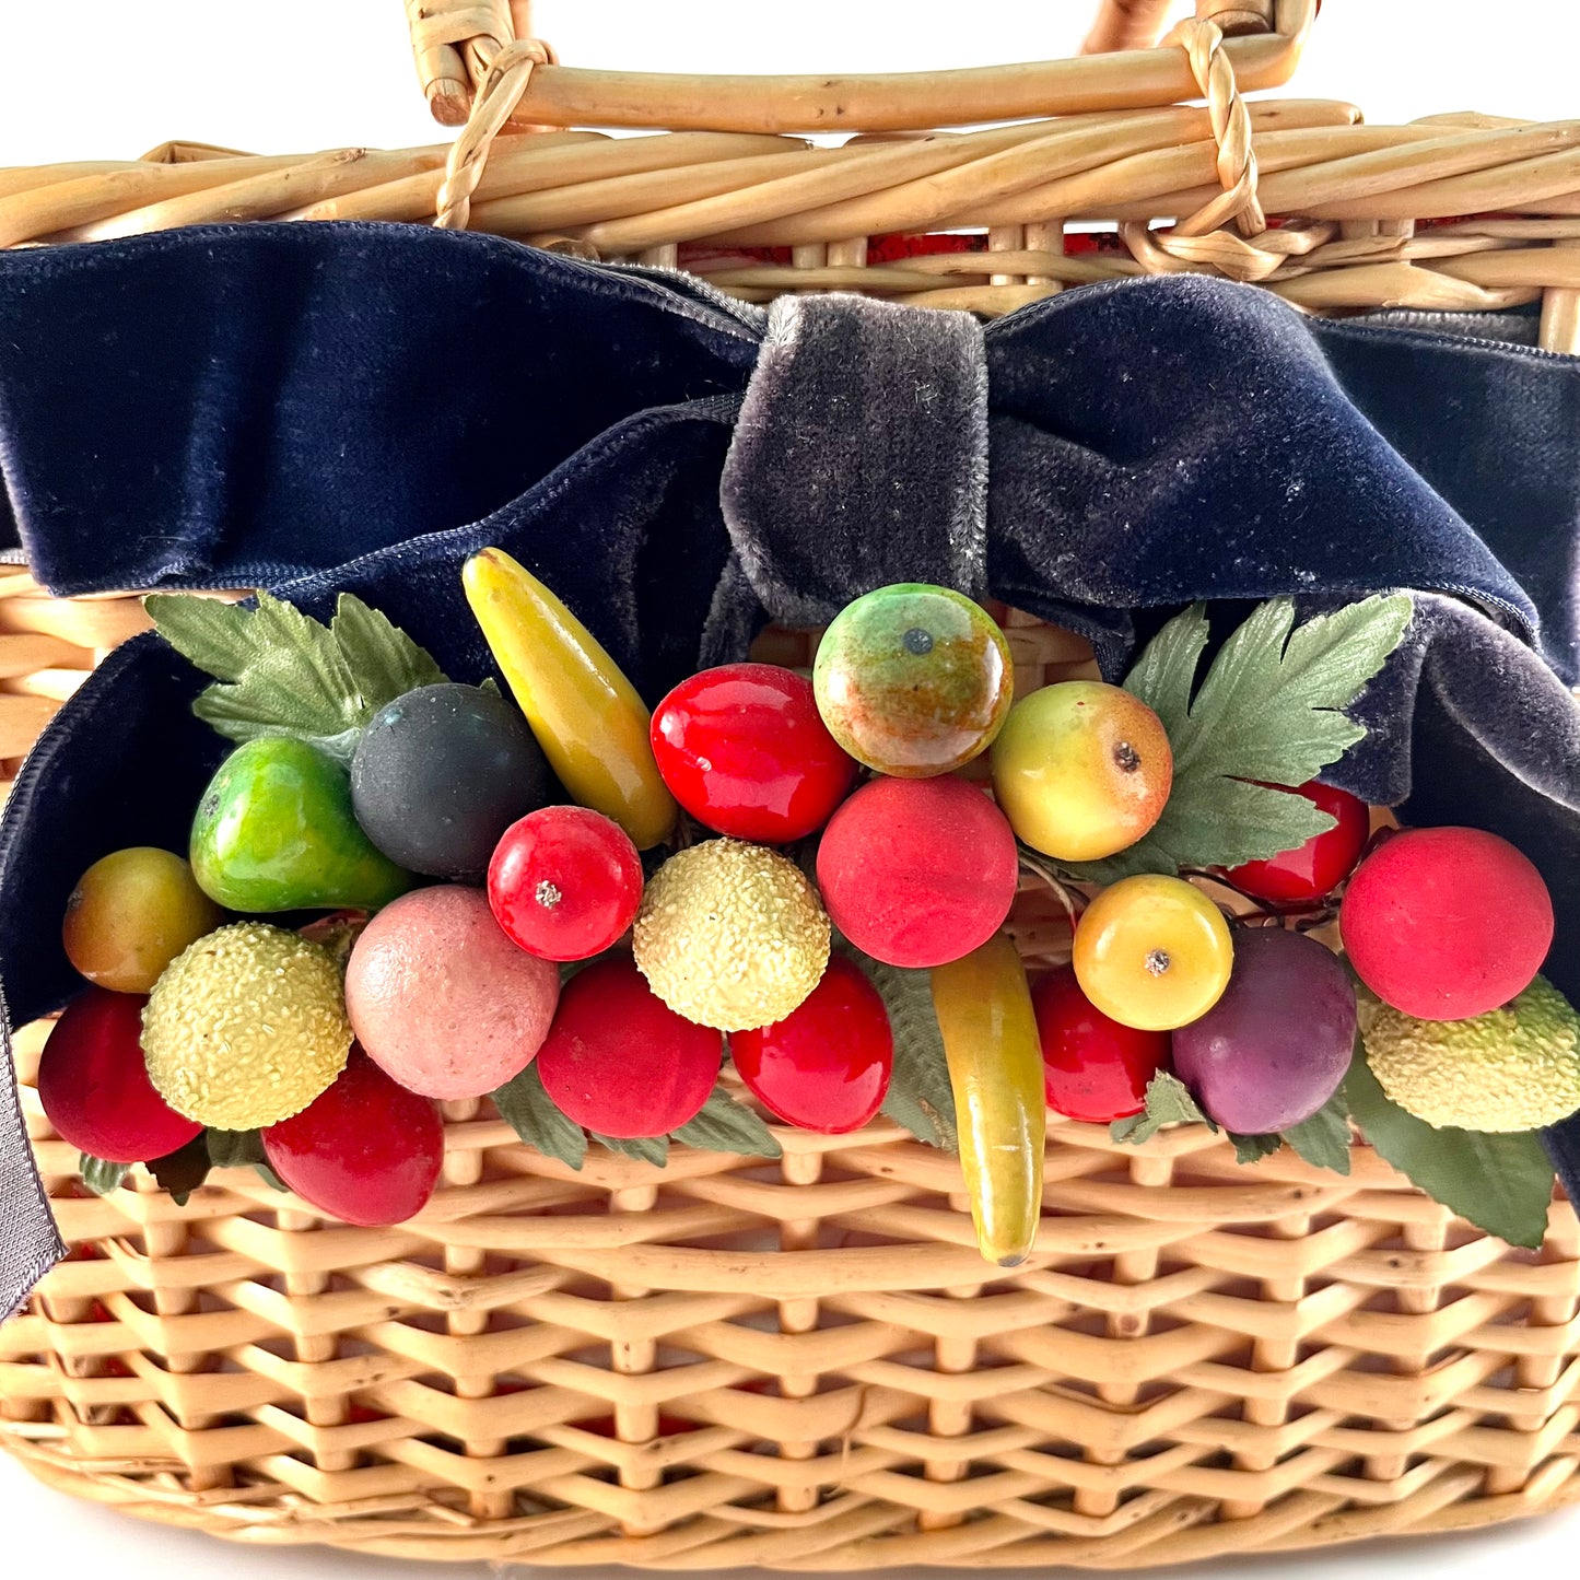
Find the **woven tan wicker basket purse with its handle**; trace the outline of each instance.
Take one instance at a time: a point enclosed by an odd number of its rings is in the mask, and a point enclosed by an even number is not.
[[[1311,311],[1539,299],[1540,344],[1580,351],[1580,122],[1368,126],[1242,100],[1288,79],[1315,0],[1201,0],[1158,47],[1158,0],[1109,0],[1079,60],[852,79],[572,70],[510,9],[408,5],[434,114],[465,122],[453,149],[169,144],[0,171],[0,239],[471,224],[757,302],[980,313],[1204,270]],[[555,130],[578,122],[670,134]],[[1010,123],[915,134],[978,122]],[[826,128],[861,136],[790,136]],[[1003,619],[1018,689],[1090,662]],[[145,624],[133,596],[55,600],[0,569],[0,758]],[[804,634],[763,640],[807,660]],[[1051,902],[1027,896],[1014,931],[1035,961],[1066,954]],[[357,1229],[251,1171],[185,1207],[141,1171],[88,1194],[30,1090],[44,1030],[16,1051],[73,1256],[0,1329],[0,1443],[152,1520],[446,1559],[1112,1569],[1580,1496],[1563,1201],[1522,1253],[1365,1149],[1343,1180],[1288,1150],[1247,1172],[1202,1127],[1119,1147],[1063,1122],[1036,1251],[989,1275],[956,1160],[896,1127],[784,1130],[771,1164],[594,1150],[574,1174],[474,1103],[452,1104],[431,1207]]]

